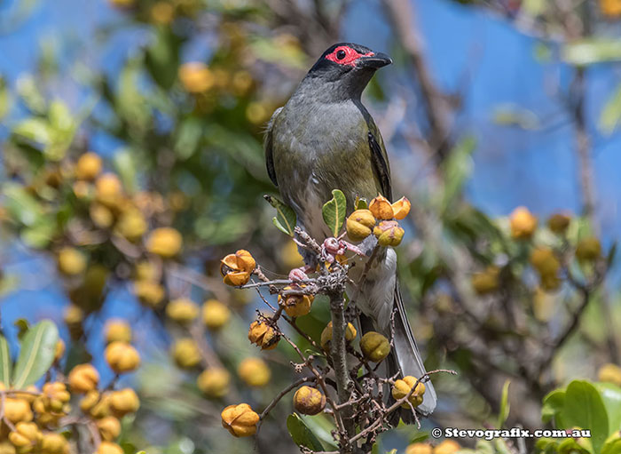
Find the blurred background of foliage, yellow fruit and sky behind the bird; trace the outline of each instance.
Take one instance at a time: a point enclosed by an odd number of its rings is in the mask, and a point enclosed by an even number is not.
[[[287,399],[255,439],[220,426],[224,404],[271,402],[295,355],[248,343],[263,303],[218,269],[242,248],[271,278],[299,264],[263,201],[262,132],[338,41],[395,60],[365,102],[413,202],[405,298],[428,369],[460,373],[438,378],[423,430],[495,421],[507,379],[507,425],[530,428],[572,378],[621,384],[618,0],[5,1],[2,329],[15,353],[21,319],[53,320],[60,369],[92,361],[106,383],[106,323],[129,323],[143,365],[122,378],[142,402],[126,452],[295,451]],[[328,319],[316,304],[300,325],[318,339]],[[238,370],[248,357],[271,370],[258,386]],[[197,385],[212,368],[230,371],[226,393]],[[328,449],[331,427],[307,419]]]

